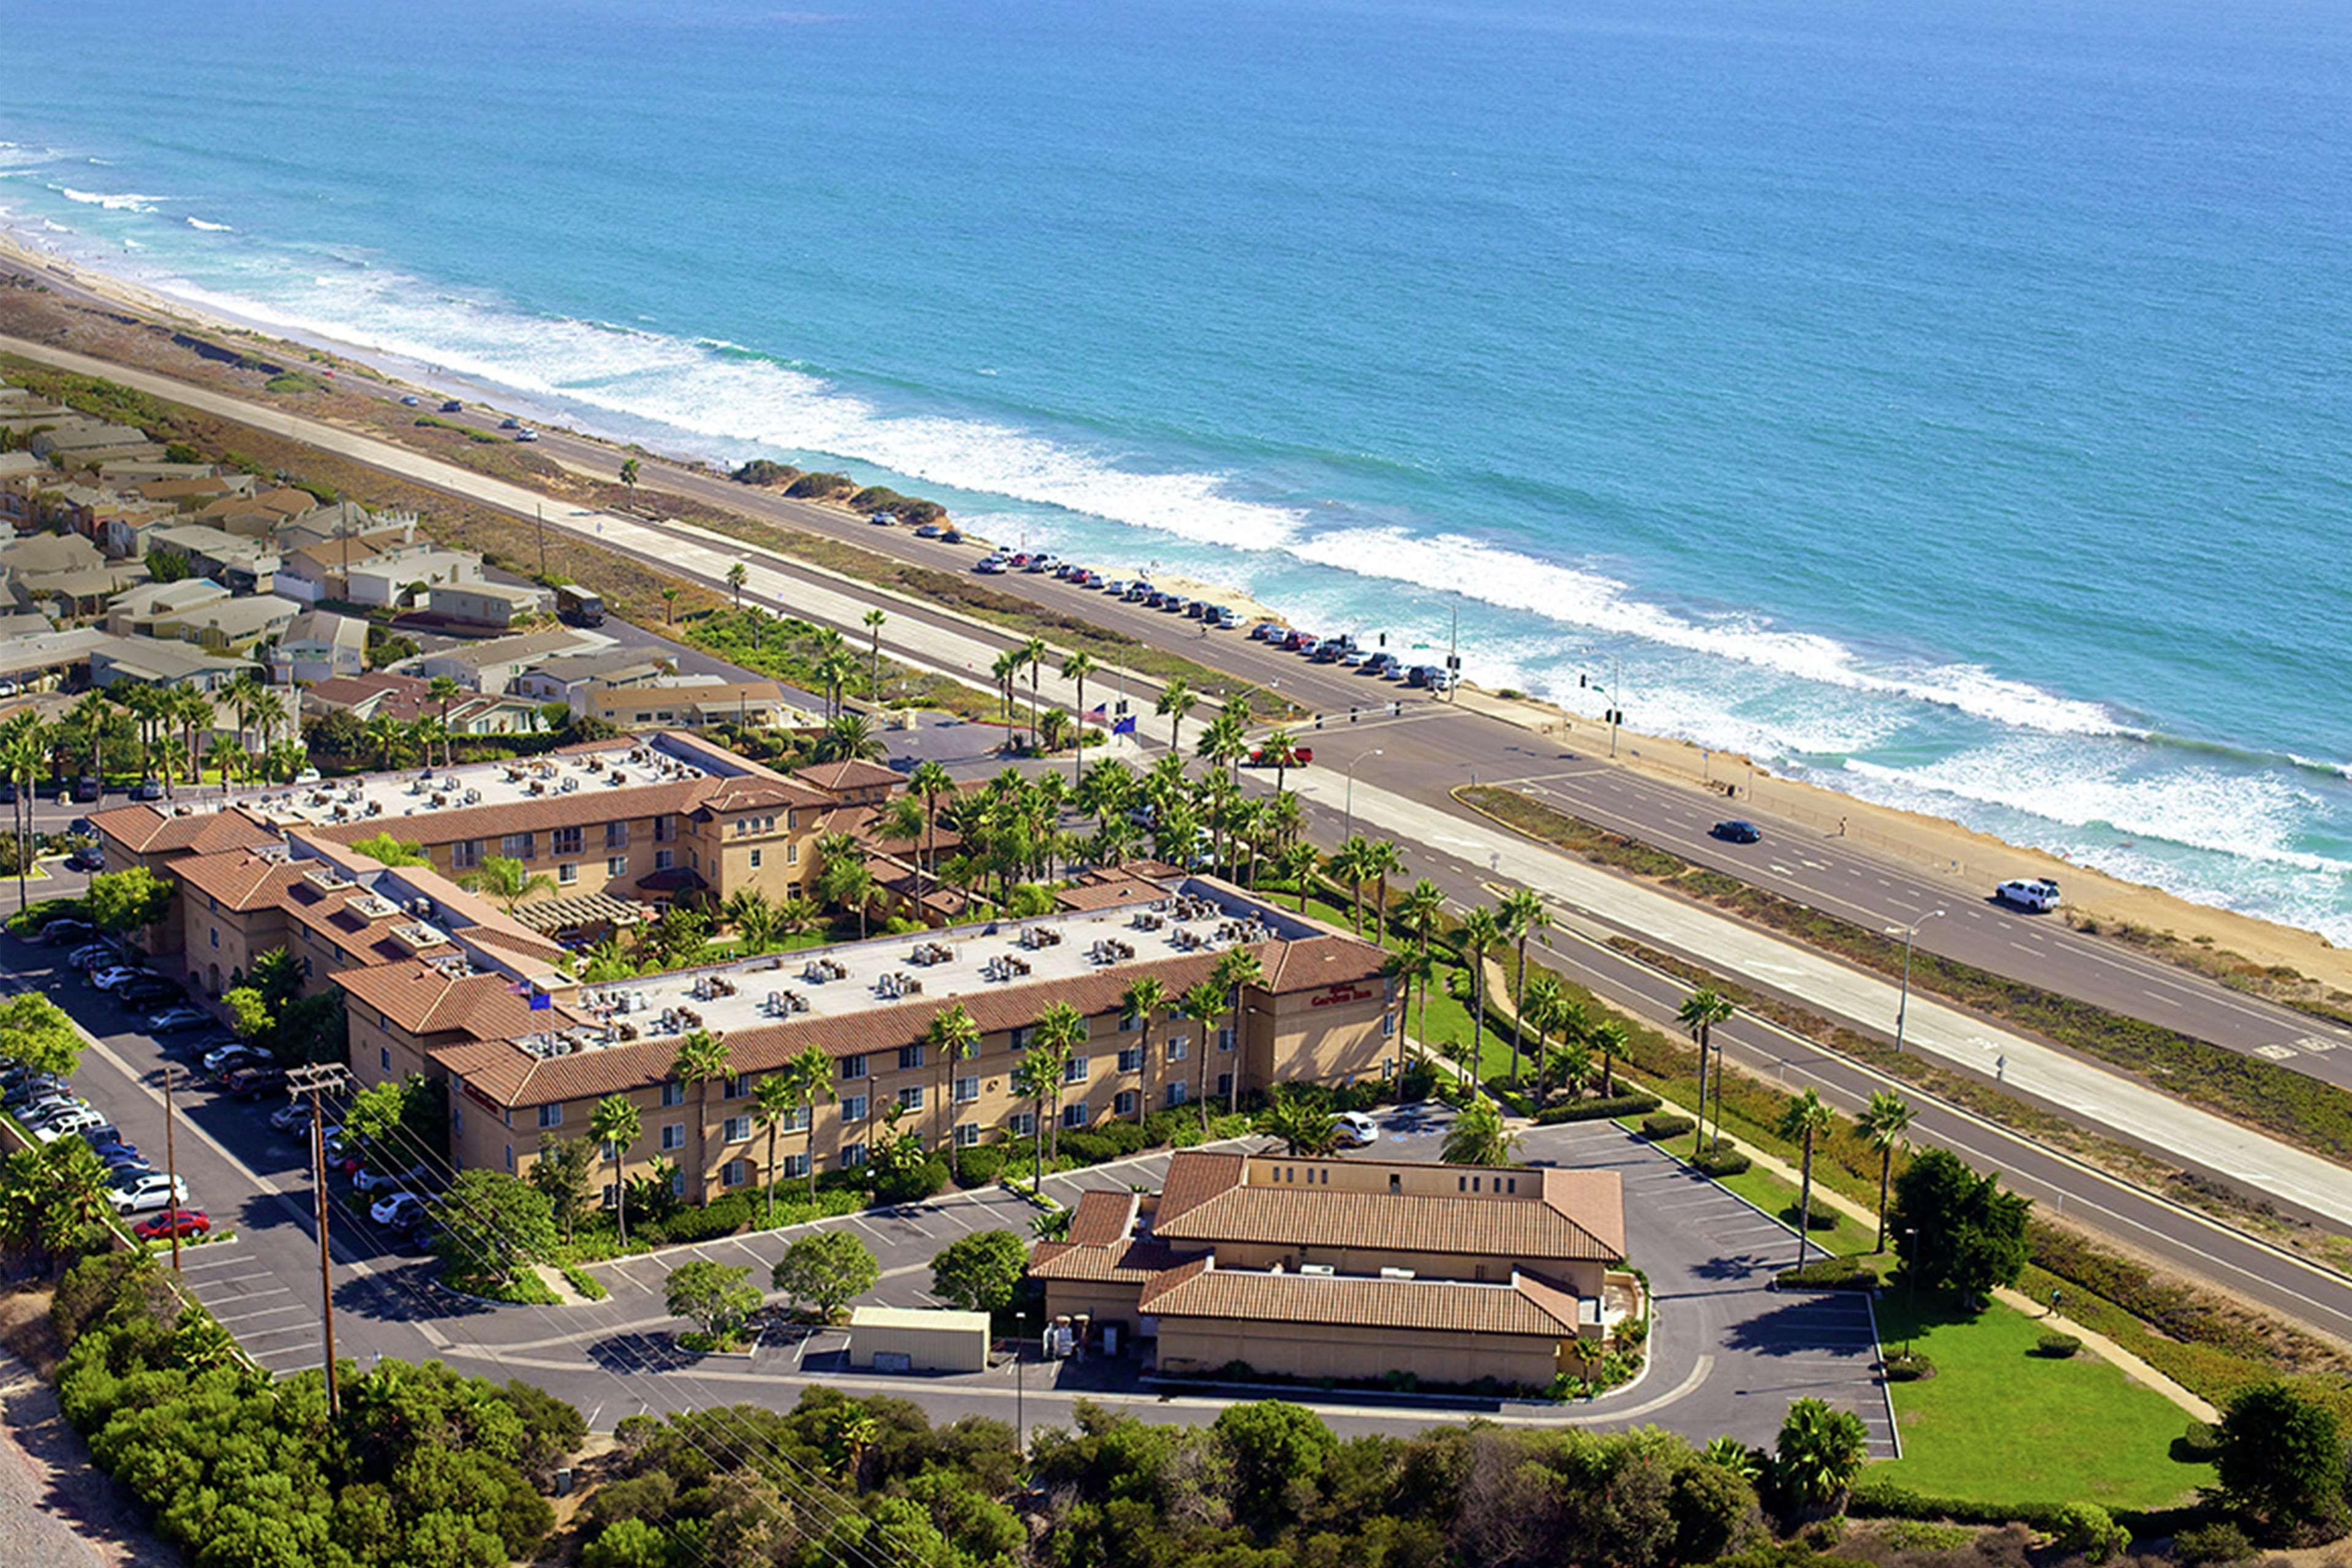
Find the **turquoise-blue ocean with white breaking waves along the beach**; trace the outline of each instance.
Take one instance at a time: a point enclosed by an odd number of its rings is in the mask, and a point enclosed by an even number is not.
[[[0,5],[0,223],[2352,940],[2345,7],[800,2]]]

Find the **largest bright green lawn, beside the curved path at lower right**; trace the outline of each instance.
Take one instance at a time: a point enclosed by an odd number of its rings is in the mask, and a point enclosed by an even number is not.
[[[1936,1375],[1891,1385],[1903,1458],[1870,1474],[1936,1497],[2105,1507],[2166,1507],[2213,1481],[2211,1465],[2171,1458],[2190,1420],[2180,1406],[2089,1352],[2037,1356],[2039,1335],[2023,1312],[1971,1319],[1947,1298],[1922,1298],[1915,1319],[1903,1291],[1886,1291],[1879,1340],[1910,1340]]]

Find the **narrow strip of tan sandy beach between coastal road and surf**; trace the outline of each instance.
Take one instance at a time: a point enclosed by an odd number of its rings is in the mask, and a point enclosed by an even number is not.
[[[534,409],[527,393],[477,383],[468,376],[452,376],[428,364],[414,364],[402,355],[369,350],[327,334],[280,331],[275,327],[240,320],[233,313],[214,310],[193,301],[181,301],[139,282],[122,280],[103,268],[87,266],[61,252],[26,244],[24,235],[0,223],[0,263],[24,268],[35,277],[47,275],[73,292],[87,294],[108,306],[136,313],[148,320],[176,322],[198,331],[226,331],[261,343],[285,343],[303,353],[322,353],[348,362],[355,371],[381,383],[414,388],[419,393],[473,390],[487,407],[499,411],[546,416],[546,407]],[[87,353],[87,348],[85,348]],[[111,357],[111,355],[99,355]],[[435,386],[414,376],[430,374]],[[548,421],[553,423],[553,421]],[[670,456],[656,449],[633,447],[612,435],[572,428],[572,433],[609,449],[619,463],[630,449],[661,456],[670,463],[708,468],[706,458]],[[1284,621],[1279,609],[1261,604],[1249,595],[1160,574],[1169,588],[1195,597],[1232,604],[1249,621]],[[1190,625],[1190,623],[1185,623]],[[1164,639],[1169,651],[1192,656],[1183,637]],[[1907,870],[1945,875],[1955,884],[1955,896],[1987,896],[1994,882],[2009,877],[2051,877],[2065,889],[2067,910],[2093,919],[2100,926],[2129,924],[2143,931],[2171,933],[2192,950],[2218,954],[2232,952],[2256,966],[2288,966],[2321,985],[2352,990],[2352,952],[2328,943],[2328,938],[2303,926],[2288,926],[2260,914],[2209,905],[2166,889],[2126,882],[2067,860],[2051,851],[2009,844],[1990,832],[1966,827],[1950,818],[1938,818],[1900,806],[1884,806],[1858,795],[1846,795],[1811,780],[1783,778],[1762,766],[1752,766],[1745,755],[1705,748],[1672,736],[1616,733],[1616,757],[1609,752],[1609,729],[1583,715],[1573,715],[1550,701],[1534,696],[1501,696],[1465,684],[1461,701],[1494,719],[1519,729],[1557,736],[1566,741],[1578,759],[1609,762],[1651,778],[1677,783],[1691,790],[1719,792],[1722,783],[1733,783],[1736,795],[1724,797],[1724,813],[1757,811],[1790,820],[1802,832],[1842,837],[1849,846],[1863,846]],[[1508,780],[1489,780],[1508,783]],[[1602,823],[1609,825],[1609,823]],[[2157,954],[2161,961],[2161,954]],[[2187,966],[2185,969],[2197,969]]]

